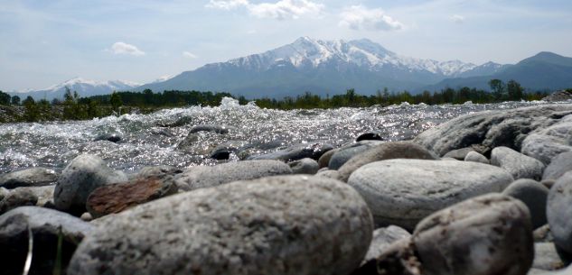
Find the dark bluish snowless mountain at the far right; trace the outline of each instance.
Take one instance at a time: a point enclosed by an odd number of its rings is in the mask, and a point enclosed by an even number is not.
[[[516,65],[507,66],[487,77],[449,78],[420,90],[439,90],[444,87],[476,87],[489,89],[493,79],[507,82],[511,79],[533,90],[558,90],[572,87],[572,58],[543,51]]]

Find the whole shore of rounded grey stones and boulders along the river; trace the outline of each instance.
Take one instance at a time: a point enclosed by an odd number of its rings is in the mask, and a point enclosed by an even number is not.
[[[194,125],[184,142],[238,130]],[[31,256],[28,274],[572,274],[572,105],[380,139],[130,175],[81,154],[61,173],[0,175],[1,273]]]

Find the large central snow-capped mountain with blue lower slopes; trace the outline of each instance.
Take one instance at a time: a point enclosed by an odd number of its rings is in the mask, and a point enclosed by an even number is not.
[[[500,64],[485,65],[404,57],[367,39],[322,41],[302,37],[275,50],[207,64],[137,90],[194,89],[281,97],[304,91],[339,94],[353,87],[361,94],[373,94],[383,87],[411,90],[445,78],[492,74],[502,68]]]

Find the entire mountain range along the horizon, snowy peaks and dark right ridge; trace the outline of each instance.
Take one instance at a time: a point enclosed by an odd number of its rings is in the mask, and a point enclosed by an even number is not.
[[[439,90],[444,87],[488,89],[488,81],[514,79],[530,89],[572,87],[572,59],[551,52],[515,65],[487,62],[475,65],[460,60],[437,61],[401,56],[367,39],[323,41],[302,37],[293,43],[226,62],[211,63],[145,85],[125,81],[98,83],[74,78],[61,85],[32,91],[34,97],[60,97],[64,87],[80,96],[113,90],[152,89],[225,91],[237,96],[296,96],[311,91],[325,96],[355,88],[360,94],[389,90]]]

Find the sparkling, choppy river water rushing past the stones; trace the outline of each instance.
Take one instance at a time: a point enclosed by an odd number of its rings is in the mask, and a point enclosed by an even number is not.
[[[239,105],[225,98],[220,106],[166,109],[151,115],[108,116],[90,121],[42,124],[0,124],[0,173],[29,167],[62,170],[81,153],[96,154],[109,166],[127,173],[145,166],[212,165],[208,157],[216,145],[234,142],[250,148],[248,154],[277,151],[296,143],[326,142],[333,146],[352,142],[361,133],[376,132],[387,141],[408,140],[459,115],[483,110],[510,109],[545,102],[505,102],[477,105],[390,105],[331,110],[279,111]],[[164,127],[178,120],[188,124]],[[192,126],[224,124],[227,134],[201,132],[187,146],[179,144]],[[97,141],[117,133],[120,142]]]

